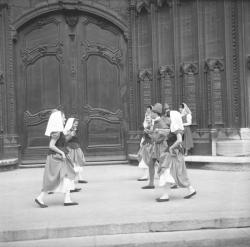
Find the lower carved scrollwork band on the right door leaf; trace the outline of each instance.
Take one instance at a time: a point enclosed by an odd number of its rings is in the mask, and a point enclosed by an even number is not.
[[[83,107],[83,111],[85,112],[84,122],[88,122],[93,118],[102,118],[104,120],[110,122],[121,122],[122,121],[122,111],[118,109],[116,112],[111,112],[102,108],[93,108],[90,105],[86,105]]]

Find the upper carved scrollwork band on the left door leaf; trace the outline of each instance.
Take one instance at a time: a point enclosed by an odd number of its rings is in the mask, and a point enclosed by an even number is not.
[[[58,42],[56,45],[40,45],[33,49],[24,49],[21,51],[23,63],[28,66],[33,64],[39,58],[44,56],[56,56],[59,62],[63,62],[63,43]]]

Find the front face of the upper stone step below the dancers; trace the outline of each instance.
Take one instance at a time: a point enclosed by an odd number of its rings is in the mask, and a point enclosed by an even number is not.
[[[167,218],[167,216],[166,216]],[[183,219],[113,223],[102,225],[68,225],[44,228],[0,231],[0,243],[54,238],[72,238],[101,235],[191,231],[200,229],[227,229],[250,227],[250,217],[227,217],[209,219]]]

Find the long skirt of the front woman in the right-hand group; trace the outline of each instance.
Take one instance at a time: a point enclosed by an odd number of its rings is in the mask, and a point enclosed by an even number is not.
[[[182,188],[190,186],[184,156],[181,152],[177,152],[175,156],[165,153],[160,160],[160,170],[162,171],[160,173],[160,186],[167,183],[175,183]]]

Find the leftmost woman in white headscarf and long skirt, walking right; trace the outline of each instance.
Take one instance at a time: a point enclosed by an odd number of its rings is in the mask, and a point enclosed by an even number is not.
[[[70,189],[76,173],[73,162],[68,157],[68,150],[65,146],[63,134],[65,116],[62,111],[55,110],[51,113],[45,135],[50,137],[49,151],[47,155],[43,187],[35,202],[41,207],[48,207],[44,204],[45,193],[64,193],[64,206],[78,205],[70,198]]]

